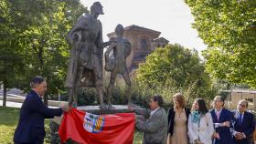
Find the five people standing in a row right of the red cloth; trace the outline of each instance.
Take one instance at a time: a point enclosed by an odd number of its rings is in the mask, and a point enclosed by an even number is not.
[[[181,93],[176,93],[173,101],[174,107],[169,108],[167,114],[161,96],[151,98],[149,110],[133,109],[139,114],[136,128],[144,132],[144,144],[253,143],[254,116],[247,111],[245,99],[240,99],[233,111],[224,108],[224,98],[220,96],[213,99],[211,110],[202,98],[196,98],[192,108],[187,108]]]

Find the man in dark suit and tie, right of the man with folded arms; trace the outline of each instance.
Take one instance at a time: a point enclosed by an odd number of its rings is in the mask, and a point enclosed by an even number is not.
[[[237,110],[234,114],[234,131],[233,135],[237,144],[251,144],[252,132],[254,130],[253,114],[247,112],[248,101],[241,99],[238,103]]]

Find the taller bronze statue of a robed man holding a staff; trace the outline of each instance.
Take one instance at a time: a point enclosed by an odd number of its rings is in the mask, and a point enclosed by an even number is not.
[[[103,102],[102,55],[103,47],[109,42],[102,41],[102,27],[98,16],[103,15],[102,5],[91,5],[91,14],[83,14],[68,34],[68,42],[73,47],[65,87],[69,88],[69,105],[77,106],[78,87],[96,87],[100,99],[100,108],[106,108]]]

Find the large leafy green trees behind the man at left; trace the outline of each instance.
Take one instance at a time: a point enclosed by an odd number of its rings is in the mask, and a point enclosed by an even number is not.
[[[5,42],[12,45],[1,46],[1,57],[12,62],[8,73],[21,76],[18,77],[20,80],[16,83],[17,87],[27,90],[31,78],[40,75],[48,78],[49,96],[58,94],[59,90],[63,91],[70,49],[66,35],[78,17],[88,12],[86,8],[79,0],[8,0],[1,1],[0,4],[5,8],[1,12],[9,18],[9,21],[1,23],[1,29],[5,29],[6,34],[13,32],[15,36],[12,39],[2,36],[0,45],[6,44]],[[1,19],[5,20],[5,17]],[[19,63],[11,58],[16,58]],[[3,60],[4,58],[1,59]],[[16,67],[23,67],[26,72],[14,71]],[[4,65],[0,68],[7,70]],[[14,80],[14,77],[2,74],[5,79]],[[48,97],[44,98],[47,104]]]

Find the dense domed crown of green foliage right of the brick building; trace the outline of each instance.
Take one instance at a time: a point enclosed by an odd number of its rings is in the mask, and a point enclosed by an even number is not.
[[[176,44],[157,48],[146,57],[136,74],[139,81],[152,86],[170,82],[177,87],[184,87],[203,80],[204,66],[200,63],[197,51]]]

